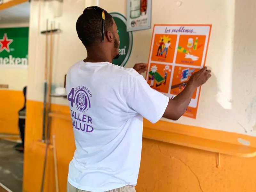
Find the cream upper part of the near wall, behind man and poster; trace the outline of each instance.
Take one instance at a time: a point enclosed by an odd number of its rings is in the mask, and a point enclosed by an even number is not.
[[[54,37],[54,84],[63,84],[64,74],[68,68],[77,60],[86,57],[86,51],[76,35],[75,23],[84,8],[96,2],[96,0],[66,0],[63,3],[63,15],[52,18],[61,29],[61,33]],[[248,114],[244,111],[252,101],[253,94],[256,94],[252,89],[255,80],[240,84],[248,78],[247,73],[250,73],[250,78],[253,78],[252,72],[256,71],[252,63],[252,53],[256,51],[252,35],[256,28],[253,23],[253,18],[256,16],[254,1],[247,0],[246,3],[240,2],[238,5],[233,0],[183,0],[181,2],[182,4],[178,6],[177,0],[153,0],[152,26],[161,23],[212,24],[206,65],[212,68],[213,76],[202,88],[197,119],[182,117],[179,123],[253,134],[246,120]],[[126,1],[100,0],[99,5],[108,12],[120,12],[126,16]],[[51,12],[42,14],[48,6],[49,4],[42,1],[31,3],[28,78],[28,99],[30,100],[43,100],[45,36],[40,35],[39,32],[45,28],[45,15],[51,18]],[[39,15],[39,10],[41,15],[36,17]],[[243,15],[247,17],[244,18]],[[246,31],[250,33],[247,34]],[[239,40],[234,34],[239,37]],[[137,62],[148,61],[151,35],[152,29],[133,33],[132,54],[126,67],[132,67]],[[245,38],[248,35],[250,38]],[[250,96],[247,96],[248,101],[245,102],[243,98],[247,89]],[[244,105],[239,103],[241,100]],[[65,99],[52,101],[57,104],[68,104]],[[246,127],[247,133],[240,124]]]

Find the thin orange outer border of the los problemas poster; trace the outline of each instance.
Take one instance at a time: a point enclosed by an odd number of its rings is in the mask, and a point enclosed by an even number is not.
[[[148,54],[148,65],[149,65],[149,62],[150,62],[150,54],[151,54],[151,51],[153,49],[152,48],[152,42],[153,42],[153,36],[154,36],[154,31],[155,31],[156,26],[209,26],[210,31],[209,31],[209,37],[208,37],[208,42],[207,42],[207,46],[206,46],[205,59],[204,59],[203,67],[205,66],[205,62],[206,62],[206,58],[207,58],[207,54],[208,54],[208,47],[209,47],[211,32],[212,32],[212,24],[154,24],[153,31],[152,31],[152,36],[151,36],[151,42],[150,42],[150,50],[149,50],[149,54]],[[147,75],[146,75],[146,78],[145,78],[146,81],[147,81],[147,77],[148,77],[148,71],[147,71]],[[201,86],[199,87],[199,95],[198,95],[198,100],[197,100],[197,103],[196,103],[197,110],[198,110],[200,95],[201,95]],[[194,119],[196,119],[196,117],[197,117],[197,110],[196,110],[196,116],[195,116]]]

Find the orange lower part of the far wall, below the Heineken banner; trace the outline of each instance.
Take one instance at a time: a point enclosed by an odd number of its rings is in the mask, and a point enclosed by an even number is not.
[[[22,91],[0,90],[0,133],[19,134],[18,112],[23,106]]]

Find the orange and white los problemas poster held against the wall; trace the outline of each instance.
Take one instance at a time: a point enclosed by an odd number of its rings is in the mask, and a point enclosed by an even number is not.
[[[146,80],[170,99],[183,91],[193,73],[205,66],[212,25],[155,25]],[[196,118],[201,87],[184,113]]]

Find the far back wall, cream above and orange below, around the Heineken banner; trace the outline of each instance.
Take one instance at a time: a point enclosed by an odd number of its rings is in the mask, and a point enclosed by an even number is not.
[[[28,23],[0,24],[0,28],[28,27]],[[0,37],[2,38],[2,37]],[[19,134],[18,111],[24,106],[23,87],[27,85],[28,69],[0,68],[0,133]]]

